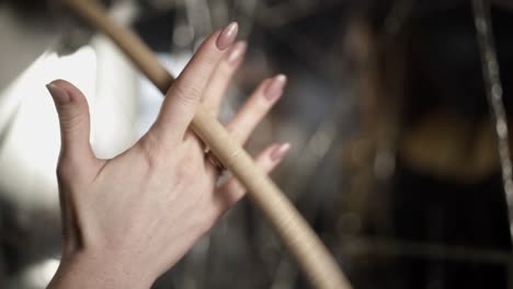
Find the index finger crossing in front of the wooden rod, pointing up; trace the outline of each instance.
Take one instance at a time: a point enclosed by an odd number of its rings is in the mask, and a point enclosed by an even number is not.
[[[238,32],[237,23],[229,24],[220,32],[210,35],[182,71],[166,95],[162,109],[156,123],[158,138],[166,140],[182,139],[196,107],[202,100],[217,63],[225,50],[233,43]]]

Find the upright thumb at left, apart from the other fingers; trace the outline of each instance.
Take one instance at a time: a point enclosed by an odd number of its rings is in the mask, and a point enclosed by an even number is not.
[[[80,162],[80,159],[93,158],[89,142],[90,116],[86,96],[75,85],[64,80],[56,80],[46,88],[54,99],[59,115],[61,161]]]

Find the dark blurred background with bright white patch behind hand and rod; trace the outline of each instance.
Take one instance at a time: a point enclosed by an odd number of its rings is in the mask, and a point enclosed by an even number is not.
[[[354,288],[513,288],[509,0],[104,3],[174,76],[206,35],[238,21],[249,50],[223,122],[262,79],[288,76],[248,149],[293,143],[273,178]],[[86,93],[100,158],[147,131],[161,94],[56,1],[0,0],[0,288],[45,288],[60,223],[59,130],[44,85],[62,78]],[[242,200],[153,288],[310,287]]]

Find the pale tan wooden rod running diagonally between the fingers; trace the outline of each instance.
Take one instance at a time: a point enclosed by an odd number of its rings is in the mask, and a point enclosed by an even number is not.
[[[113,22],[104,7],[94,0],[64,2],[76,15],[107,35],[166,94],[173,78],[138,36]],[[248,188],[249,197],[264,212],[312,285],[321,289],[350,289],[344,274],[307,221],[223,125],[200,106],[191,128]]]

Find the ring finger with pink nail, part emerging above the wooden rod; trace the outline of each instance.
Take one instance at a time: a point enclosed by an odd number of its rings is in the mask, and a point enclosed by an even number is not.
[[[263,81],[236,117],[227,125],[228,131],[240,143],[248,140],[256,125],[282,96],[286,82],[287,78],[283,74]]]

